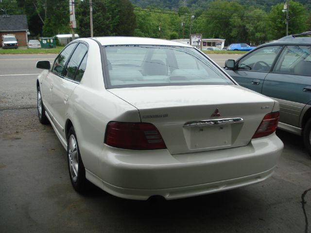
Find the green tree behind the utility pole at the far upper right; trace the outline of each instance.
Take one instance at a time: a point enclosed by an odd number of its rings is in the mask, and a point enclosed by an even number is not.
[[[270,39],[278,39],[286,35],[286,12],[282,12],[283,3],[272,6],[269,13],[271,36]],[[308,29],[308,13],[299,2],[290,0],[288,34],[302,33]]]

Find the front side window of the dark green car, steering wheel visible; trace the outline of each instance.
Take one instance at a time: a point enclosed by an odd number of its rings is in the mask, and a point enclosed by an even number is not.
[[[281,48],[268,46],[255,50],[239,61],[238,69],[268,72]]]

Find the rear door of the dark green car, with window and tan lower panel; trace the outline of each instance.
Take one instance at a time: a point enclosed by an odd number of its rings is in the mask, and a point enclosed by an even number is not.
[[[311,46],[285,46],[262,86],[262,94],[280,103],[280,122],[299,127],[311,101]]]

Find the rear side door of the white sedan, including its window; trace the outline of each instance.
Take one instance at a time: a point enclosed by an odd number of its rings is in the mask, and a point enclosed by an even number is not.
[[[86,44],[79,43],[70,56],[67,65],[62,72],[62,77],[58,77],[54,81],[54,88],[52,91],[53,116],[54,121],[56,122],[55,126],[63,138],[66,138],[64,128],[69,98],[73,90],[80,83],[82,76],[79,67],[86,57],[86,53]]]

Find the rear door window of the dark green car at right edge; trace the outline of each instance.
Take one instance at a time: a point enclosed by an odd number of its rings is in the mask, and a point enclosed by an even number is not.
[[[273,72],[311,76],[311,46],[286,46]]]

